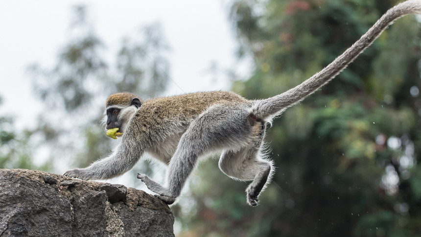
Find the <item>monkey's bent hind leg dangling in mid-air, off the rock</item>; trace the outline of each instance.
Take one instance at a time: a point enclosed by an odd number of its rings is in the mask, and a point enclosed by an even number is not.
[[[273,170],[273,162],[265,159],[261,152],[264,127],[255,125],[255,129],[259,131],[247,147],[239,151],[224,151],[219,160],[219,168],[228,176],[239,180],[253,180],[246,189],[247,203],[250,206],[257,206],[257,197],[270,182]]]

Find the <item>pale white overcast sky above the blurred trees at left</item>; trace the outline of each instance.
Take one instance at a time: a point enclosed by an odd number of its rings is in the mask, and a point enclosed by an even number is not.
[[[2,115],[17,116],[19,127],[31,127],[39,102],[31,92],[26,67],[51,68],[69,37],[71,6],[85,3],[96,34],[107,47],[107,60],[117,54],[124,36],[142,25],[160,22],[171,47],[171,79],[166,94],[229,90],[225,76],[213,81],[212,62],[242,70],[235,59],[236,40],[222,0],[0,0],[0,96]]]

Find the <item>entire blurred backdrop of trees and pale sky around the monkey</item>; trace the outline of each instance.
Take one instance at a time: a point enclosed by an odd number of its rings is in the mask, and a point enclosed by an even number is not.
[[[0,167],[63,173],[116,142],[105,99],[232,90],[266,98],[321,70],[397,0],[1,1]],[[420,23],[398,20],[333,82],[268,131],[277,172],[247,206],[247,183],[217,157],[190,177],[177,236],[418,236]],[[142,159],[107,182],[145,189]]]

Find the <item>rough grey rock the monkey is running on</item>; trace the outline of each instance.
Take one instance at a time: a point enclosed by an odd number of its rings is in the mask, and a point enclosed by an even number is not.
[[[0,237],[167,237],[164,202],[122,185],[27,169],[0,169]]]

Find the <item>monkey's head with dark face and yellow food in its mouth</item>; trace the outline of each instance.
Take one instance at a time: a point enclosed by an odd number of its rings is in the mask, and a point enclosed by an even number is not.
[[[106,130],[115,129],[114,132],[107,132],[107,136],[117,139],[120,137],[143,101],[134,94],[128,92],[116,93],[108,96],[105,103],[105,116],[103,122]],[[116,133],[117,132],[117,133]],[[111,136],[110,136],[111,134]]]

